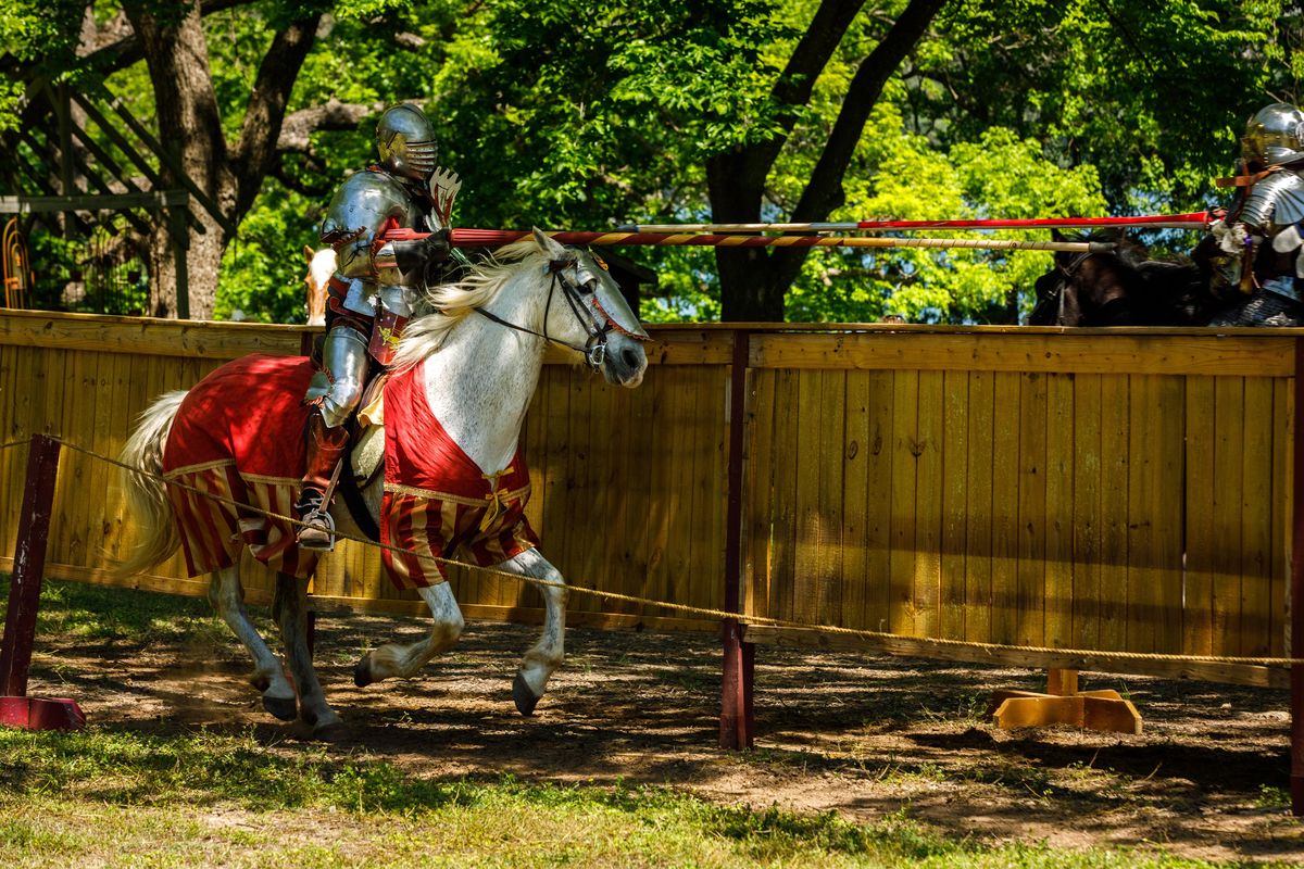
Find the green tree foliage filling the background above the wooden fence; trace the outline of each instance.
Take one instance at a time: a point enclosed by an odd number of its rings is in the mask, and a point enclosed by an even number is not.
[[[146,0],[134,0],[145,3]],[[771,91],[819,4],[786,0],[262,0],[205,16],[209,65],[233,142],[274,30],[326,10],[289,111],[339,99],[417,99],[441,162],[464,180],[455,224],[601,229],[709,220],[704,163],[793,124],[765,185],[763,219],[806,189],[861,61],[904,0],[853,21],[806,106]],[[156,13],[175,4],[150,0]],[[16,125],[22,77],[98,81],[74,57],[82,3],[0,8],[0,129]],[[107,20],[119,4],[96,4]],[[1284,0],[961,0],[874,107],[831,219],[1056,216],[1197,210],[1236,151],[1244,119],[1299,96],[1301,16]],[[12,68],[12,69],[10,69]],[[13,72],[17,70],[17,72]],[[153,113],[143,64],[113,93]],[[104,143],[111,151],[111,143]],[[267,181],[227,251],[216,315],[299,322],[304,244],[346,171],[374,159],[370,122],[318,133],[288,156],[295,192]],[[1001,237],[1017,237],[1003,235]],[[1026,237],[1045,238],[1046,233]],[[713,319],[709,250],[626,249],[661,276],[648,319]],[[1001,322],[1037,253],[812,253],[789,292],[797,319]]]

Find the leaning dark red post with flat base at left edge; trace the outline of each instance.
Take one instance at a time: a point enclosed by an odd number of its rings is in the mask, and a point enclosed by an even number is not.
[[[27,697],[27,670],[37,637],[37,610],[46,571],[60,443],[46,435],[33,435],[29,449],[27,481],[9,577],[9,608],[4,640],[0,641],[0,724],[27,730],[76,730],[86,723],[76,702]]]

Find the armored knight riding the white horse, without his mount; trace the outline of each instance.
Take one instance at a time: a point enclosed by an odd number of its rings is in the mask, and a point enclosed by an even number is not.
[[[456,176],[437,173],[430,121],[416,107],[394,106],[376,125],[379,163],[335,190],[321,227],[335,249],[327,285],[326,340],[305,404],[313,405],[305,440],[308,465],[295,509],[305,525],[299,545],[329,550],[335,526],[326,512],[357,409],[370,377],[394,356],[399,335],[428,285],[450,268],[449,211]],[[438,182],[452,181],[449,185]],[[430,236],[391,241],[394,229]]]

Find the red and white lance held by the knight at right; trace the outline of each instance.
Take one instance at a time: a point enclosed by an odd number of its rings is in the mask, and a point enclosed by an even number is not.
[[[1138,218],[1030,218],[983,220],[858,220],[852,223],[668,223],[630,224],[621,232],[910,232],[915,229],[1200,229],[1209,224],[1208,211],[1157,214]]]

